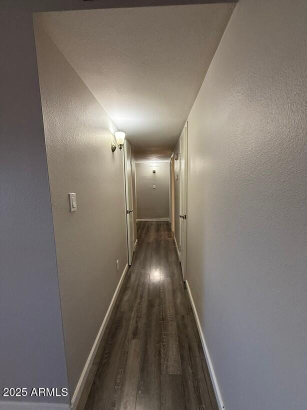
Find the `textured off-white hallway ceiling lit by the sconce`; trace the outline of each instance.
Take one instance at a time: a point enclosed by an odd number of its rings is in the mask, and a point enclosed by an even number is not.
[[[169,157],[233,4],[41,13],[138,158]]]

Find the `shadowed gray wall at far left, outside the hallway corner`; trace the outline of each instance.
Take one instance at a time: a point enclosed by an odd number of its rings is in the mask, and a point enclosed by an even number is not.
[[[4,386],[67,387],[32,16],[1,10],[0,27],[1,393]]]

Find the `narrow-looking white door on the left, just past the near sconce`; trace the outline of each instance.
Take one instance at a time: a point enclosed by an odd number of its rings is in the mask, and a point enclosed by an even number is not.
[[[124,140],[124,177],[126,194],[126,219],[127,219],[127,240],[128,240],[128,263],[131,265],[134,250],[133,235],[133,200],[132,200],[132,177],[131,177],[131,146]]]

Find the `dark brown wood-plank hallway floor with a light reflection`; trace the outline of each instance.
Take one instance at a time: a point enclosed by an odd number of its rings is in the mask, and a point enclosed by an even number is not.
[[[139,243],[83,391],[86,410],[217,404],[168,222],[138,222]]]

